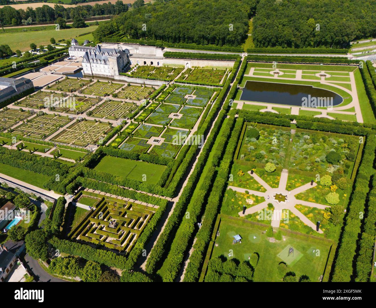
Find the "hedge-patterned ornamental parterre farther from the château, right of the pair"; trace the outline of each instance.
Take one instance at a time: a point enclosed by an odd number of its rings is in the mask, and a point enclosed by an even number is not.
[[[226,70],[187,68],[177,81],[193,82],[202,85],[220,85]]]

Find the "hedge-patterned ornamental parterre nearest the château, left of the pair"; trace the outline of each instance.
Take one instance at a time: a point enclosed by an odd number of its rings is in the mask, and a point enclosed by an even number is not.
[[[179,67],[165,67],[165,66],[138,66],[136,71],[133,71],[130,76],[135,78],[144,78],[144,79],[157,79],[172,81],[177,75],[182,72],[183,68]]]

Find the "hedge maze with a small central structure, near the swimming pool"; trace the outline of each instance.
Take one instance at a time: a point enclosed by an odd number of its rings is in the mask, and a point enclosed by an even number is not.
[[[105,199],[73,237],[119,252],[129,252],[155,211],[134,202]]]

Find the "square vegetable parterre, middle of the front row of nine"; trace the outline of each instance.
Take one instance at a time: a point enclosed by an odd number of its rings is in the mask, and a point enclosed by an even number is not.
[[[53,134],[70,121],[68,117],[45,114],[34,117],[29,122],[17,126],[13,133],[41,139]]]

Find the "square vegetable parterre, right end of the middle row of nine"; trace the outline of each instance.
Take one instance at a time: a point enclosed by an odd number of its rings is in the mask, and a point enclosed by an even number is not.
[[[131,114],[137,109],[137,106],[132,103],[119,102],[116,100],[109,100],[92,111],[92,116],[97,118],[106,118],[106,119],[124,119],[128,114]]]

